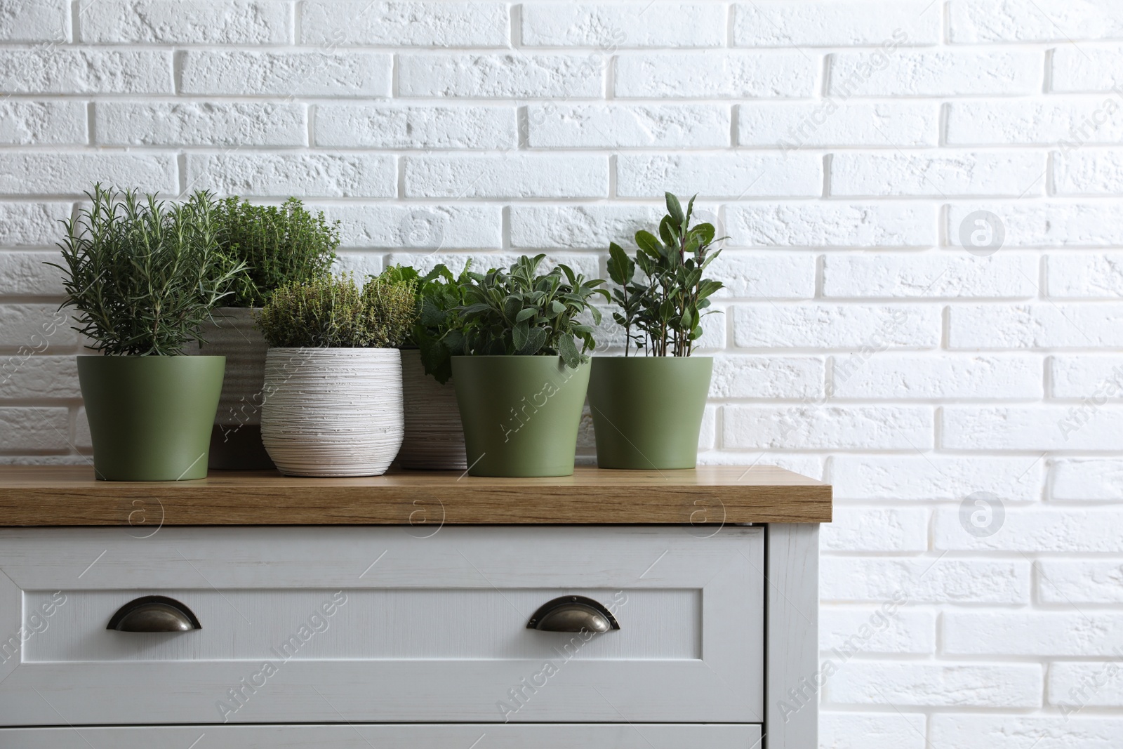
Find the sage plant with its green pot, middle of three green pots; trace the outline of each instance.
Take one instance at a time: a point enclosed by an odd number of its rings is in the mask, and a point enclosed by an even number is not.
[[[596,347],[588,313],[608,292],[565,265],[538,272],[545,255],[523,255],[509,270],[472,274],[465,287],[465,356],[453,356],[453,384],[464,422],[468,473],[475,476],[567,476]],[[578,348],[579,346],[579,348]]]

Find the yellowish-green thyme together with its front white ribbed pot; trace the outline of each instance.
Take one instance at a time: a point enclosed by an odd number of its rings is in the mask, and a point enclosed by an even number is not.
[[[413,282],[383,274],[287,283],[262,308],[262,441],[291,476],[377,476],[402,445],[398,347],[417,317]]]

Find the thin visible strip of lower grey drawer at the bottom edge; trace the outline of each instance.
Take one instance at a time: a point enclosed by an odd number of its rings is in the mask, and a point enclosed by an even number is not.
[[[4,749],[752,749],[759,725],[159,725],[0,729]]]

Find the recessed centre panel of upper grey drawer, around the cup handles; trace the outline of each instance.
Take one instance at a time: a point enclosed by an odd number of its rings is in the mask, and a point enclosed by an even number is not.
[[[582,642],[585,657],[701,658],[700,591],[630,590],[623,595],[611,588],[565,592],[603,601],[630,624],[628,637],[613,633]],[[91,627],[91,622],[108,622],[124,602],[137,597],[135,591],[69,591],[49,628],[27,641],[24,660],[538,659],[572,639],[495,625],[515,612],[533,612],[559,595],[557,588],[162,588],[159,593],[190,602],[203,628],[190,637],[122,636]],[[28,592],[25,606],[29,611],[49,609],[54,595]],[[331,615],[325,615],[325,605],[334,610]],[[209,622],[218,624],[207,627]]]

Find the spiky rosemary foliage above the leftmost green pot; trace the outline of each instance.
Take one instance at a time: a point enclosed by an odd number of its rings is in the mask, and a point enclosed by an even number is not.
[[[206,192],[166,202],[93,186],[90,207],[63,221],[58,243],[66,298],[90,348],[110,355],[173,356],[230,292],[244,264],[219,247]]]

